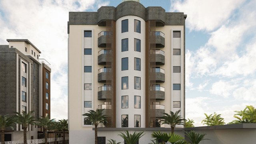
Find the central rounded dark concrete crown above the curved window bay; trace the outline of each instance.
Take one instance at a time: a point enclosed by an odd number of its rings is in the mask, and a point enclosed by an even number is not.
[[[116,7],[116,20],[118,20],[122,16],[128,15],[138,16],[145,20],[146,9],[142,4],[134,1],[122,2]]]

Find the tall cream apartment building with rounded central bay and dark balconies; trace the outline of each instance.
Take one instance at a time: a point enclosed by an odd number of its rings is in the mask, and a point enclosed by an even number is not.
[[[181,12],[126,1],[97,12],[69,12],[68,120],[70,142],[94,142],[82,114],[105,109],[100,144],[124,142],[122,130],[170,130],[164,112],[185,117],[185,19]],[[182,125],[177,125],[182,128]],[[166,128],[166,129],[165,129]]]

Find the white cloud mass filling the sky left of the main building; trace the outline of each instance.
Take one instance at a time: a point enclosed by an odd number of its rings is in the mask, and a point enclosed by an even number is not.
[[[96,9],[108,4],[96,0],[1,0],[0,44],[6,39],[29,39],[50,62],[51,116],[68,118],[68,34],[69,11]]]

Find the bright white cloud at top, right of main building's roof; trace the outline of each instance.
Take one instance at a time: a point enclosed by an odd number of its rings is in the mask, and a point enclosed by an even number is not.
[[[188,15],[190,30],[211,31],[224,24],[245,0],[171,0],[171,11]]]

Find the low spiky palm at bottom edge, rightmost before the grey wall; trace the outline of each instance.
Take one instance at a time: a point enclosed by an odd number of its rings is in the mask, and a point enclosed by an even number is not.
[[[190,144],[199,144],[202,140],[210,140],[210,139],[205,139],[204,136],[206,134],[200,134],[196,133],[194,130],[190,132],[185,132],[185,136],[188,136]]]

